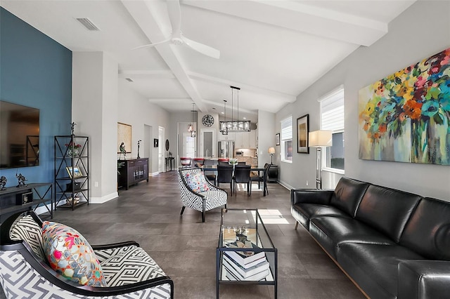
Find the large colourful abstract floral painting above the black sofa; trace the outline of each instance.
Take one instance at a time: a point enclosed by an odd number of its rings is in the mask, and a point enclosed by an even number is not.
[[[359,91],[359,159],[450,165],[450,48]]]

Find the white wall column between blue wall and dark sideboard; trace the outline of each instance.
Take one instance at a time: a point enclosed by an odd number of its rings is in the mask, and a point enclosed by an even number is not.
[[[102,52],[74,52],[72,121],[77,123],[75,135],[89,136],[92,203],[117,197],[116,115],[117,62]]]

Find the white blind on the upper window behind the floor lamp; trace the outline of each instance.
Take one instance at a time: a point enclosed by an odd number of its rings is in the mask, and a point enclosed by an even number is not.
[[[319,100],[321,104],[321,130],[344,130],[344,89]]]

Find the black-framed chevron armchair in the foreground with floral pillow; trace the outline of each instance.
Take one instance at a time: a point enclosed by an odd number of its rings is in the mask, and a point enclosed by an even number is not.
[[[174,298],[174,283],[134,241],[90,246],[79,232],[34,212],[0,225],[6,298]]]

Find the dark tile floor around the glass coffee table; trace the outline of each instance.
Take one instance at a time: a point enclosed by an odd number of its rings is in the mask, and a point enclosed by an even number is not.
[[[247,197],[243,189],[229,197],[229,208],[276,209],[287,222],[266,225],[278,248],[278,298],[364,298],[301,225],[294,230],[288,190],[273,183],[268,196],[254,189]],[[220,208],[208,211],[205,223],[190,208],[180,216],[176,171],[119,194],[105,204],[58,209],[53,220],[74,227],[91,244],[138,241],[174,280],[174,298],[215,298]],[[220,298],[274,298],[274,287],[221,285]]]

